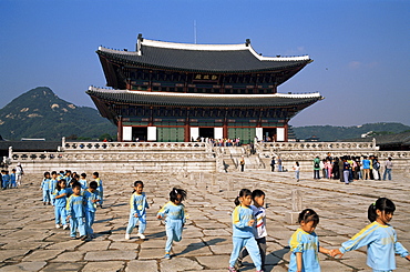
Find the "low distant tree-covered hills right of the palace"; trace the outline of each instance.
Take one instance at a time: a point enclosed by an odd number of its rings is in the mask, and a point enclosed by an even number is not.
[[[377,134],[392,134],[409,131],[410,127],[402,123],[366,123],[355,127],[332,127],[332,125],[308,125],[308,127],[293,127],[297,139],[305,140],[312,135],[317,137],[319,141],[337,141],[346,139],[357,139],[361,134],[372,131]],[[369,133],[370,134],[370,133]]]

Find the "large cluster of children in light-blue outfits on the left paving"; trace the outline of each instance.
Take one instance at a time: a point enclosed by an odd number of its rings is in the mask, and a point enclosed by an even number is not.
[[[93,239],[95,211],[103,204],[103,183],[99,172],[92,174],[93,181],[88,184],[86,174],[79,175],[70,170],[44,172],[41,182],[44,205],[54,206],[55,228],[70,228],[71,239]]]

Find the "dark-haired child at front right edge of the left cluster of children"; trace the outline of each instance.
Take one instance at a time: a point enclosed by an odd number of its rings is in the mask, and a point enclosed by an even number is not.
[[[89,239],[95,238],[92,225],[94,224],[96,203],[100,201],[98,184],[95,181],[90,182],[90,188],[84,191],[85,200],[85,233]]]

